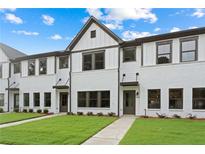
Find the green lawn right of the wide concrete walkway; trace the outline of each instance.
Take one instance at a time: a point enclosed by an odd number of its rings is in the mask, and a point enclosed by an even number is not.
[[[120,144],[205,144],[205,121],[136,119]]]

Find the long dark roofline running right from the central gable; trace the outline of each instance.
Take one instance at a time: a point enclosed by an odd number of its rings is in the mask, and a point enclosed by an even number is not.
[[[167,40],[167,39],[186,37],[186,36],[191,36],[191,35],[199,35],[199,34],[205,34],[205,27],[188,29],[188,30],[183,30],[183,31],[178,31],[178,32],[170,32],[170,33],[153,35],[153,36],[142,37],[142,38],[136,38],[134,40],[124,41],[121,44],[121,46],[122,47],[137,46],[137,45],[141,45],[142,43],[147,43],[147,42]]]

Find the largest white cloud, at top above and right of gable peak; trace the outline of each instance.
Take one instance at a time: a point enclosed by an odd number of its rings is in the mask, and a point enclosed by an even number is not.
[[[154,23],[157,21],[157,16],[152,12],[152,9],[139,9],[139,8],[112,8],[112,9],[86,9],[89,15],[102,20],[105,25],[111,29],[122,29],[123,21],[125,20],[140,20],[145,22]],[[88,17],[83,19],[85,22]]]

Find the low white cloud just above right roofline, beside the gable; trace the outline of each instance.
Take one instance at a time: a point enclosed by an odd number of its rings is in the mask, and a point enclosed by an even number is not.
[[[135,38],[141,38],[141,37],[146,37],[146,36],[151,36],[154,34],[151,34],[150,32],[137,32],[137,31],[124,31],[122,33],[122,37],[124,40],[132,40]]]

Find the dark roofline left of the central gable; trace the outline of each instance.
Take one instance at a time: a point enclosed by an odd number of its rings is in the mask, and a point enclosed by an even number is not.
[[[64,50],[46,52],[46,53],[40,53],[40,54],[34,54],[34,55],[15,58],[15,59],[12,59],[11,62],[19,62],[19,61],[29,60],[29,59],[45,58],[45,57],[52,57],[52,56],[63,56],[63,55],[69,55],[69,53],[65,52]]]

